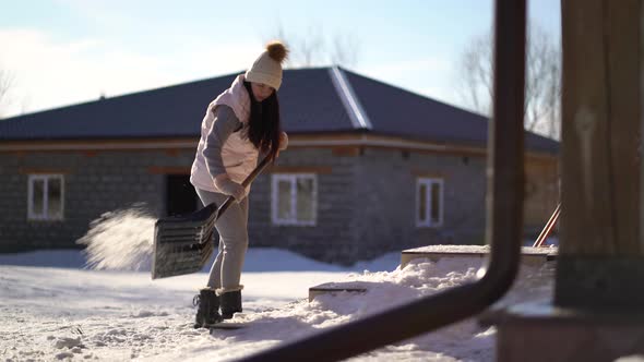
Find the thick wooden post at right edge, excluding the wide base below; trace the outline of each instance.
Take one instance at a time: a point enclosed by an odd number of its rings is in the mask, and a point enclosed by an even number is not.
[[[642,1],[564,0],[562,212],[554,303],[644,305]]]

